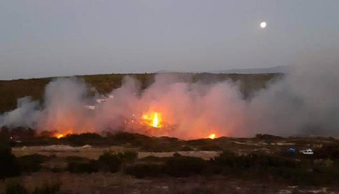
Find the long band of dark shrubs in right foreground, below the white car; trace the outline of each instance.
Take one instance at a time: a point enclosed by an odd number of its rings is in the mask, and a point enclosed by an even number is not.
[[[210,161],[176,155],[167,158],[164,163],[133,164],[126,167],[125,173],[137,178],[223,175],[247,180],[324,186],[339,183],[339,162],[338,158],[314,161],[257,154],[239,156],[223,152]]]

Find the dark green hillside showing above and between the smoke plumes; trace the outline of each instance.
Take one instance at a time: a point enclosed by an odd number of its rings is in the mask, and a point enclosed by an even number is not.
[[[216,81],[239,81],[241,91],[247,98],[258,89],[264,88],[268,81],[279,78],[282,74],[212,74],[185,73],[191,76],[193,82],[211,83]],[[133,76],[141,82],[142,89],[152,84],[155,74],[101,74],[76,76],[84,79],[90,87],[95,87],[100,94],[107,94],[112,89],[121,86],[124,76]],[[39,78],[27,80],[0,81],[0,113],[15,109],[16,99],[31,96],[35,100],[43,100],[46,84],[54,78]]]

